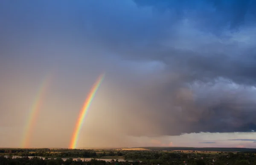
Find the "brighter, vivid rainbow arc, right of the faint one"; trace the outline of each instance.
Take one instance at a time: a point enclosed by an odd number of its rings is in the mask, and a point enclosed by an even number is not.
[[[76,127],[75,127],[74,133],[72,135],[72,139],[71,139],[71,142],[70,142],[70,148],[73,148],[73,149],[76,148],[79,133],[80,133],[82,124],[84,122],[84,117],[86,116],[86,114],[89,110],[90,104],[92,103],[93,98],[94,98],[97,90],[99,89],[100,84],[102,83],[102,81],[104,79],[104,76],[105,76],[105,74],[102,74],[102,75],[99,76],[97,81],[93,84],[93,87],[90,90],[90,93],[88,94],[86,100],[84,101],[84,106],[83,106],[83,108],[81,109],[81,111],[79,113],[79,117],[78,117],[78,120],[76,122]]]

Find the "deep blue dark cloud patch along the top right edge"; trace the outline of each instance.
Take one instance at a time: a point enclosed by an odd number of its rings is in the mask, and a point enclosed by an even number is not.
[[[216,32],[223,28],[238,29],[256,16],[254,0],[134,0],[139,6],[152,6],[159,12],[174,11],[179,18],[188,14],[198,17],[198,28]],[[217,15],[217,16],[216,16]],[[219,16],[222,17],[219,17]],[[203,26],[202,26],[203,25]]]

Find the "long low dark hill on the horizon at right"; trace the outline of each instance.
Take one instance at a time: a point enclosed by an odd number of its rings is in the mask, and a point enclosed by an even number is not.
[[[246,152],[246,151],[256,151],[256,148],[195,148],[195,147],[134,147],[143,148],[153,151],[173,151],[173,150],[184,150],[184,151],[237,151],[237,152]]]

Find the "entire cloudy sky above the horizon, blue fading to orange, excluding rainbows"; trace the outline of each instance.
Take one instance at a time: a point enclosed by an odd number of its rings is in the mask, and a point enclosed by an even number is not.
[[[0,147],[29,138],[28,147],[68,148],[105,72],[77,148],[256,148],[255,8],[254,0],[0,1]]]

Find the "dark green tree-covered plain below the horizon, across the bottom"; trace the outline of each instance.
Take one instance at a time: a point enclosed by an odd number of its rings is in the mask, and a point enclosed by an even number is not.
[[[0,149],[0,165],[256,165],[256,149],[208,150]]]

